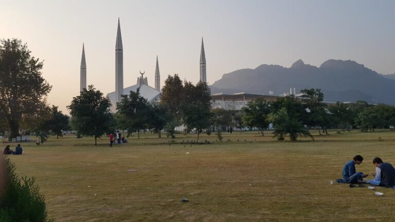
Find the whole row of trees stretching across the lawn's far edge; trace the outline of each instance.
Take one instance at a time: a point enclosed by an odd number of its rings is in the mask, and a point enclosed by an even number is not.
[[[67,108],[71,117],[57,106],[49,106],[46,97],[51,86],[42,77],[43,62],[32,57],[21,40],[0,40],[0,135],[10,131],[9,138],[35,133],[44,142],[49,134],[62,135],[75,130],[96,139],[122,130],[128,135],[150,130],[166,132],[174,138],[176,129],[210,134],[232,128],[256,129],[263,135],[271,125],[279,140],[289,136],[310,136],[308,129],[327,134],[329,128],[346,131],[360,128],[364,132],[395,125],[395,108],[371,105],[364,101],[329,104],[320,89],[303,89],[303,97],[279,97],[276,101],[256,99],[242,110],[211,109],[210,89],[206,83],[192,84],[178,75],[168,76],[161,89],[160,102],[148,101],[139,90],[123,95],[117,112],[100,90],[88,86],[73,98]]]

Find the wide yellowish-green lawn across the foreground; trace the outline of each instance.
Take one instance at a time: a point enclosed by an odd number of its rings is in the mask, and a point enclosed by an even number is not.
[[[379,197],[329,181],[356,154],[364,173],[376,156],[394,164],[395,132],[330,134],[290,142],[235,132],[186,147],[196,135],[169,146],[142,134],[111,148],[107,138],[94,146],[93,138],[51,137],[22,143],[25,155],[10,158],[21,176],[37,178],[56,221],[392,221],[395,189],[376,187]]]

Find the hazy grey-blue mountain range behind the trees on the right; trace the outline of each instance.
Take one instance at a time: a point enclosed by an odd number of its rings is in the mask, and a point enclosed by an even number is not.
[[[320,88],[327,101],[365,100],[369,103],[395,105],[395,74],[382,75],[362,64],[347,60],[328,60],[320,67],[296,61],[290,68],[260,65],[226,73],[214,82],[211,93],[280,95],[296,88]]]

